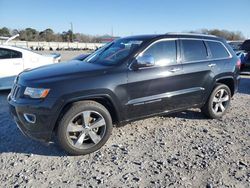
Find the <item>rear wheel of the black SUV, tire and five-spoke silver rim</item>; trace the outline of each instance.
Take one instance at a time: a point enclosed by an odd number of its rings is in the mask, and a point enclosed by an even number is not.
[[[212,119],[221,118],[228,110],[231,102],[231,91],[225,84],[216,84],[202,112]]]

